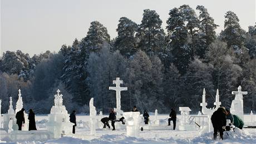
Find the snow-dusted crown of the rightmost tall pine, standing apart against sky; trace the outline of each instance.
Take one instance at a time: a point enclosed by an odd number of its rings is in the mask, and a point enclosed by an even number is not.
[[[237,14],[228,11],[225,15],[224,31],[220,33],[220,38],[227,42],[228,48],[233,48],[235,53],[240,54],[245,51],[245,31],[240,27]]]

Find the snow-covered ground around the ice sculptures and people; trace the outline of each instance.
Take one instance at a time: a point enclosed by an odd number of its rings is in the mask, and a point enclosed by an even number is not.
[[[153,117],[153,116],[150,116]],[[180,116],[178,116],[179,119]],[[159,115],[159,119],[165,121],[168,115]],[[127,137],[126,130],[120,130],[117,126],[116,131],[112,129],[102,130],[97,128],[96,136],[90,136],[88,127],[89,116],[77,116],[76,134],[64,136],[55,140],[45,141],[19,141],[10,142],[1,140],[1,143],[256,143],[256,129],[244,128],[239,135],[227,136],[224,133],[225,140],[213,141],[213,133],[204,133],[200,135],[200,130],[180,131],[179,122],[177,130],[151,130],[141,131],[140,137]],[[245,115],[245,125],[249,123],[250,116]],[[38,130],[45,130],[47,122],[46,115],[36,116]],[[118,124],[117,124],[118,125]],[[166,123],[167,127],[167,123]],[[171,125],[172,127],[172,125]]]

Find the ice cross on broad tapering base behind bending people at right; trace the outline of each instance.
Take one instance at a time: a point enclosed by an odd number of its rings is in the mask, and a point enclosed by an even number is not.
[[[244,120],[244,104],[243,95],[247,95],[247,92],[242,91],[242,87],[238,87],[238,91],[233,91],[232,95],[235,95],[235,100],[232,101],[230,113],[237,115]]]

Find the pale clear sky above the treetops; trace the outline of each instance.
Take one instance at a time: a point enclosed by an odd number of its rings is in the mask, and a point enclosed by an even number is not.
[[[154,9],[166,27],[170,9],[189,4],[193,9],[203,5],[220,27],[224,15],[233,11],[246,31],[255,23],[255,0],[0,0],[1,55],[5,51],[40,54],[47,50],[58,52],[62,44],[85,37],[92,21],[107,27],[111,39],[117,36],[120,17],[141,23],[144,9]],[[198,12],[198,11],[196,11]]]

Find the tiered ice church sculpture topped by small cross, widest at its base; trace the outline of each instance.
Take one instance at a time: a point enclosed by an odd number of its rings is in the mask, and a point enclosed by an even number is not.
[[[48,122],[46,127],[48,131],[53,134],[54,138],[60,138],[62,134],[72,133],[72,126],[74,125],[69,121],[69,115],[66,107],[62,105],[62,95],[60,90],[57,90],[55,95],[55,105],[51,108],[51,113],[48,115]]]

